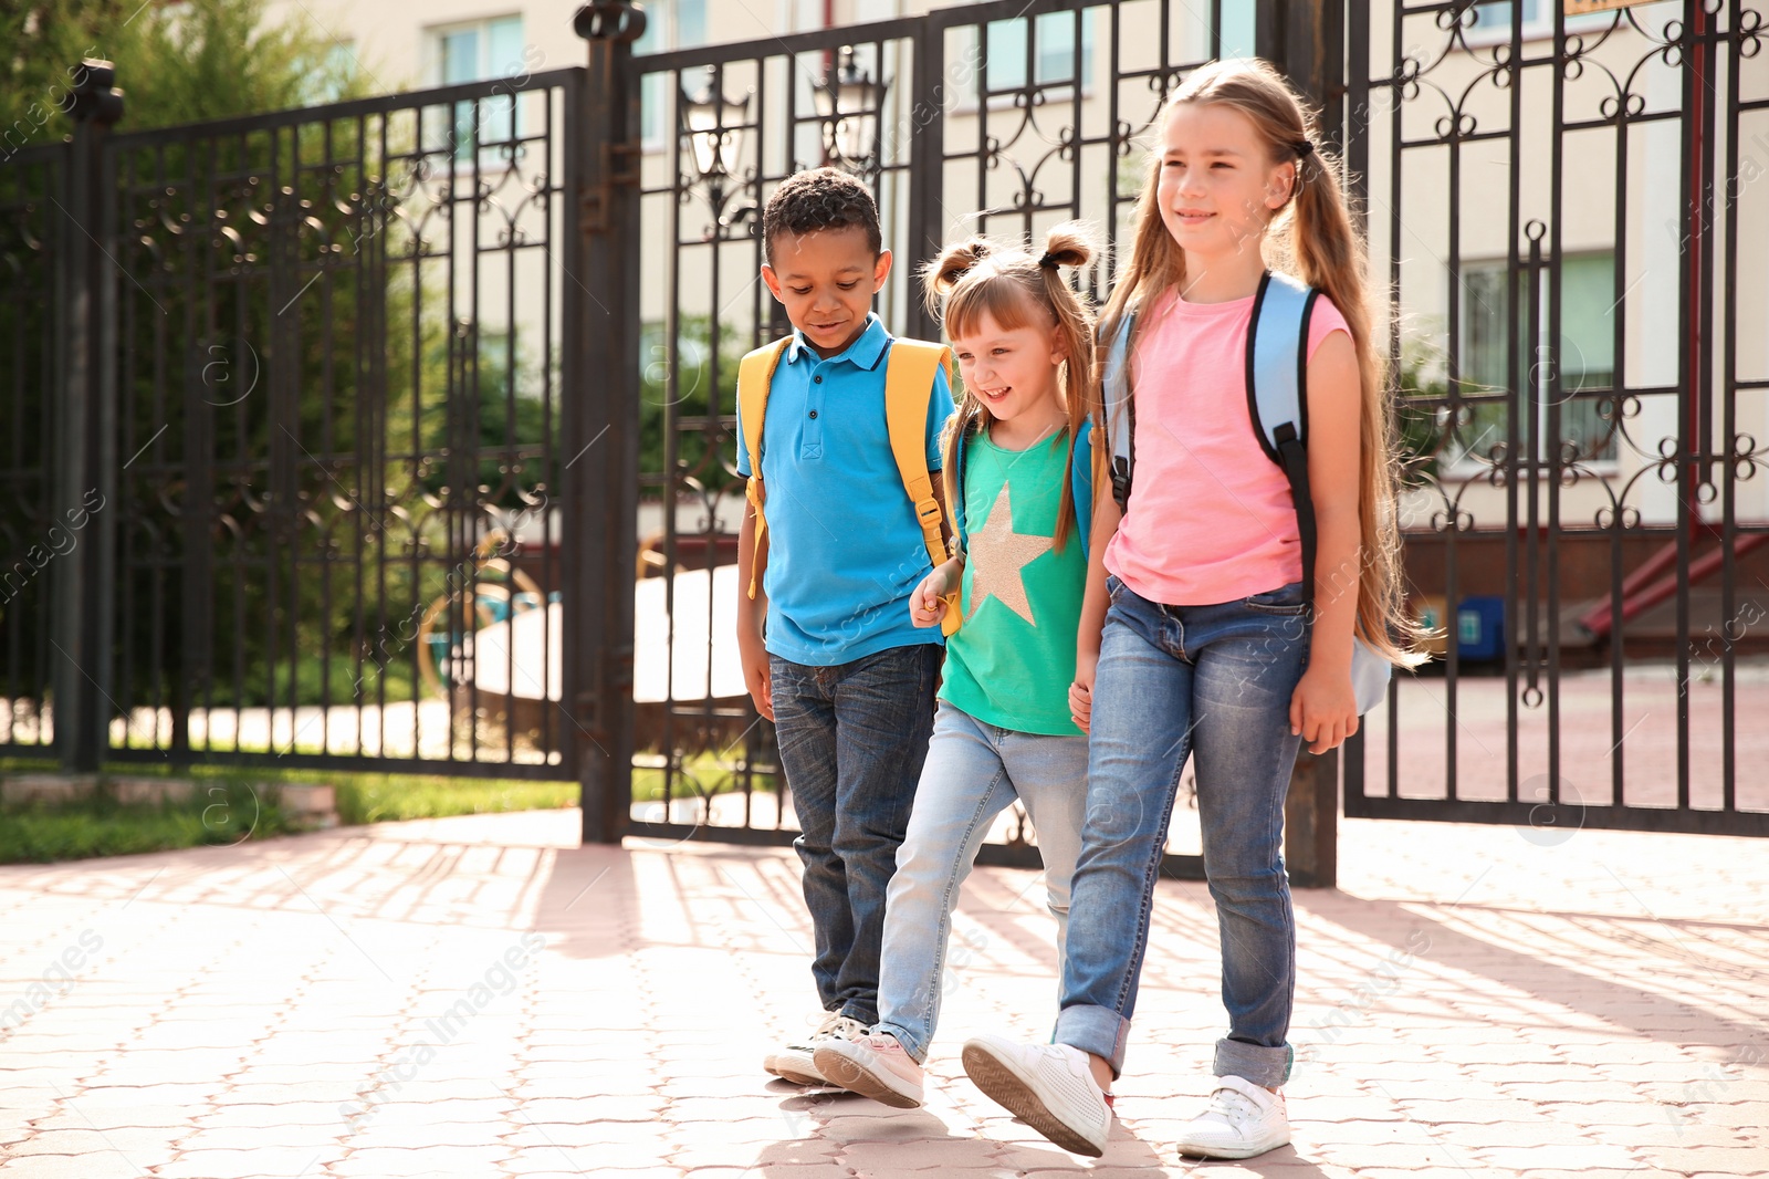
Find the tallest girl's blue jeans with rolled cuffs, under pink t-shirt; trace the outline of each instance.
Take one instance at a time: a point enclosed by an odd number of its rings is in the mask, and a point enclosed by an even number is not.
[[[1107,586],[1054,1041],[1123,1071],[1168,820],[1192,756],[1229,1018],[1215,1075],[1275,1089],[1293,1055],[1284,1037],[1297,933],[1283,832],[1302,742],[1290,735],[1309,648],[1302,582],[1221,605],[1159,605],[1116,577]]]

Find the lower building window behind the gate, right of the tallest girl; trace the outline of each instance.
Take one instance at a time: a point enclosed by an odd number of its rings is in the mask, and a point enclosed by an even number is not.
[[[1518,297],[1505,296],[1505,262],[1470,262],[1461,274],[1461,381],[1465,395],[1504,393],[1535,381],[1537,420],[1520,423],[1527,448],[1539,458],[1548,450],[1539,439],[1548,428],[1548,398],[1553,365],[1560,368],[1560,439],[1578,448],[1580,462],[1612,462],[1617,453],[1610,421],[1604,418],[1608,393],[1615,384],[1615,255],[1567,255],[1560,262],[1560,347],[1544,349],[1537,365],[1521,340],[1518,365],[1523,372],[1507,377],[1511,361],[1509,328],[1523,331],[1528,315],[1525,278],[1518,278]],[[1548,273],[1541,274],[1537,297],[1539,338],[1548,335]],[[1507,326],[1509,319],[1512,320]],[[1467,455],[1486,458],[1505,441],[1507,405],[1484,402],[1474,407],[1459,446],[1451,446],[1452,466]]]

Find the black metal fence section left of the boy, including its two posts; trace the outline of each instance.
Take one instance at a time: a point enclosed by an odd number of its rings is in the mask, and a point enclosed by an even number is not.
[[[587,71],[117,135],[88,64],[73,140],[0,166],[0,751],[575,779],[609,837],[632,328],[591,25]]]

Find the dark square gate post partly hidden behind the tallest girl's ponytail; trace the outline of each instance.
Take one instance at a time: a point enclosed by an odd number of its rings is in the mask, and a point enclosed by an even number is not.
[[[1355,4],[1355,0],[1353,0]],[[1343,149],[1344,0],[1260,0],[1254,46],[1320,112],[1325,145]],[[1314,756],[1304,747],[1284,802],[1284,866],[1302,889],[1337,882],[1339,751]]]

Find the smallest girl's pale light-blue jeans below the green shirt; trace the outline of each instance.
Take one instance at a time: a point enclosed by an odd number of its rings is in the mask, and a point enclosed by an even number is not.
[[[895,1036],[913,1059],[927,1059],[939,1021],[952,906],[976,862],[976,848],[1015,797],[1038,832],[1045,903],[1056,917],[1061,956],[1068,878],[1086,816],[1086,736],[1003,729],[939,703],[909,836],[897,852],[897,875],[890,882],[879,972],[877,1030]]]

